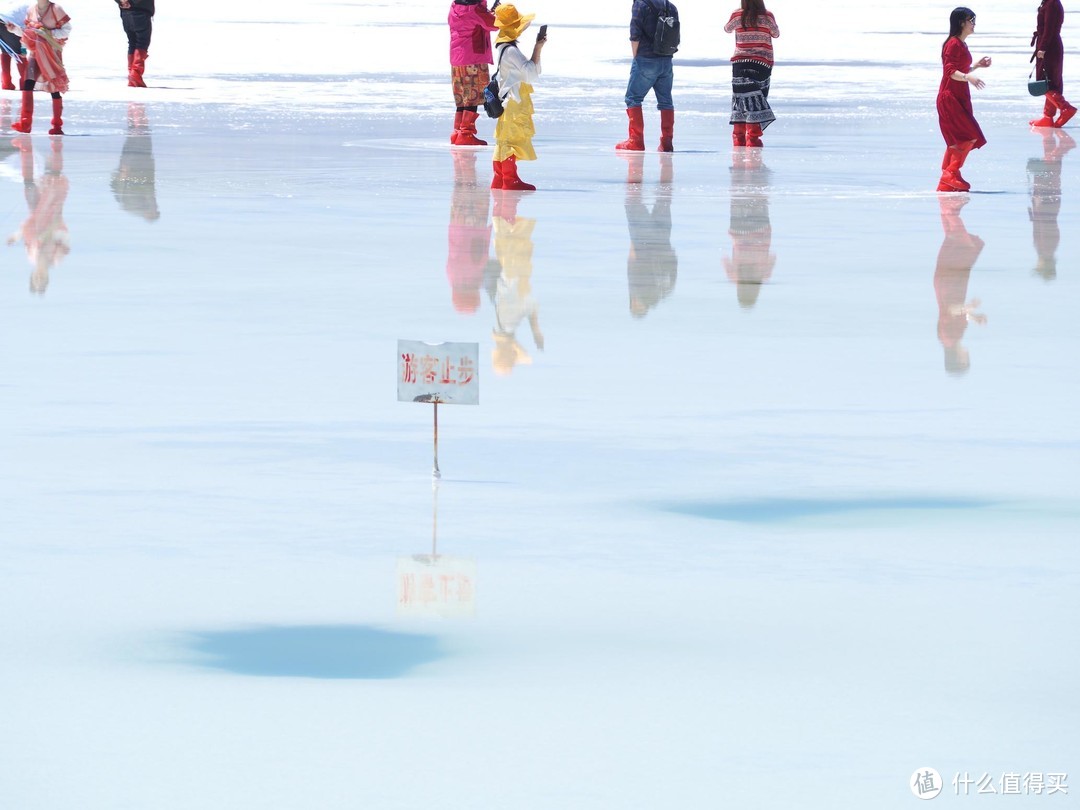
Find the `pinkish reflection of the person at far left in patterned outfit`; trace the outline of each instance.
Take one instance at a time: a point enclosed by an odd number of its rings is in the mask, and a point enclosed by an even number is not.
[[[68,193],[68,180],[64,176],[64,141],[62,138],[49,139],[49,152],[40,177],[35,177],[32,140],[19,135],[11,143],[21,156],[23,191],[29,215],[23,227],[8,238],[8,244],[14,245],[22,240],[33,267],[30,292],[44,295],[50,270],[71,249],[71,238],[64,221],[64,203]]]

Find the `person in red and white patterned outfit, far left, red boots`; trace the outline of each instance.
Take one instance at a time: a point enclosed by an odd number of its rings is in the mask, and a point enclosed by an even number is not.
[[[8,23],[8,30],[23,38],[23,48],[29,56],[26,79],[23,81],[23,107],[18,121],[11,129],[30,132],[33,124],[33,87],[38,80],[53,97],[53,121],[50,135],[64,134],[64,99],[68,90],[67,71],[64,70],[64,45],[71,33],[71,18],[64,9],[50,0],[37,0],[26,12],[22,27]]]

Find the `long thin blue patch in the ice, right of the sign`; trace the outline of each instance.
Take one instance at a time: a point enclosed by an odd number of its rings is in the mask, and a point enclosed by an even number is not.
[[[664,503],[667,512],[733,523],[787,523],[876,512],[967,511],[997,505],[973,498],[758,498],[744,501]]]

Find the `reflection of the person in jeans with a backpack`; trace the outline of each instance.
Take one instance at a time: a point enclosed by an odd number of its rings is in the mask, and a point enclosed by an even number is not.
[[[626,287],[630,314],[645,318],[649,310],[672,294],[678,276],[678,255],[672,247],[672,156],[661,153],[660,185],[650,208],[643,199],[644,152],[620,152],[626,161]]]

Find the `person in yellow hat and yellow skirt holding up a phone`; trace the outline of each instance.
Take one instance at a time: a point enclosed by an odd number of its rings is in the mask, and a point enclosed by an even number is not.
[[[522,16],[513,5],[495,10],[499,36],[495,40],[499,56],[499,92],[505,96],[504,111],[495,125],[495,177],[491,188],[508,191],[536,191],[536,186],[517,176],[518,160],[536,160],[532,148],[532,82],[540,77],[540,52],[546,37],[538,37],[532,58],[517,49],[517,38],[529,27],[536,14]]]

